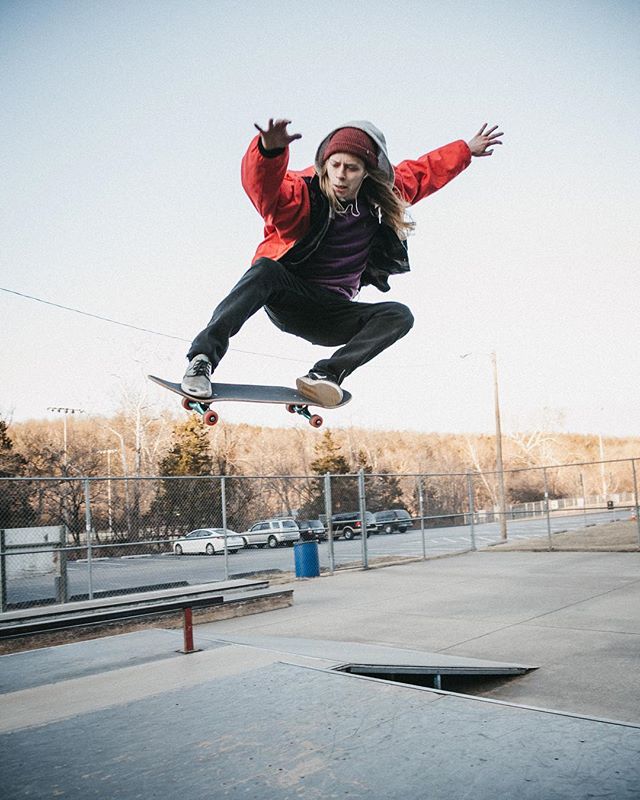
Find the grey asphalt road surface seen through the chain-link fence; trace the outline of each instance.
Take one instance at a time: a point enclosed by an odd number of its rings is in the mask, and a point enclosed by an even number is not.
[[[589,514],[587,524],[597,525],[612,522],[616,519],[628,519],[630,511],[617,510]],[[551,532],[582,528],[585,525],[583,514],[570,516],[553,516]],[[474,526],[476,547],[485,547],[500,540],[497,523],[486,523]],[[508,535],[510,540],[546,537],[548,535],[546,517],[535,519],[509,520]],[[367,539],[368,558],[434,556],[467,550],[472,547],[472,531],[470,526],[451,528],[428,528],[424,531],[410,530],[405,533],[373,534]],[[319,544],[320,566],[330,567],[329,545]],[[340,539],[334,543],[334,564],[336,567],[345,564],[362,563],[363,542],[360,538],[351,541]],[[294,550],[292,547],[279,547],[274,550],[264,548],[248,548],[228,555],[228,575],[250,575],[269,570],[293,572]],[[86,595],[91,591],[94,595],[101,592],[126,592],[152,586],[178,582],[189,584],[206,583],[224,580],[227,577],[225,557],[223,555],[131,555],[119,558],[93,559],[91,568],[85,561],[68,563],[69,596]],[[21,604],[32,604],[55,596],[53,576],[35,576],[16,579],[8,582],[7,604],[15,607]]]

